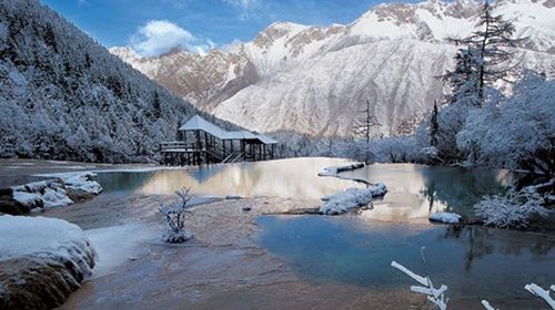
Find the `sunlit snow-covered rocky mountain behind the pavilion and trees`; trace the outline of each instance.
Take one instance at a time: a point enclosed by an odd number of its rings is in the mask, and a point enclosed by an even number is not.
[[[555,1],[498,0],[494,8],[514,20],[516,37],[529,38],[515,64],[553,76]],[[456,51],[446,39],[470,34],[478,11],[472,0],[387,3],[345,25],[274,23],[251,42],[208,55],[111,51],[196,106],[251,130],[350,135],[369,100],[383,124],[376,131],[387,135],[442,97],[434,76]]]

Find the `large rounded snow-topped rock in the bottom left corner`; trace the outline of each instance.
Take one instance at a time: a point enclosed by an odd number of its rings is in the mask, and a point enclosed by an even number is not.
[[[0,216],[0,309],[59,307],[94,267],[83,230],[62,219]]]

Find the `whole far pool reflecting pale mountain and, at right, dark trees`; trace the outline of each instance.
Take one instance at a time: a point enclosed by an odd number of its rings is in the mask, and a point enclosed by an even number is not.
[[[334,158],[294,158],[271,162],[205,166],[150,173],[101,174],[107,192],[139,190],[173,194],[190,187],[195,195],[266,196],[319,200],[322,196],[361,186],[335,177],[319,177],[323,168],[345,163]],[[472,217],[472,206],[483,196],[503,190],[511,175],[500,170],[428,167],[413,164],[379,164],[342,176],[383,182],[387,194],[362,217],[381,220],[423,219],[447,210]]]

